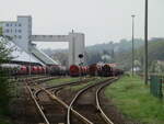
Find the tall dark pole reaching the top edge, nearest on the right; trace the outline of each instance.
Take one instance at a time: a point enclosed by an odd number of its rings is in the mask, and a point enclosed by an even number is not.
[[[144,21],[144,83],[148,84],[148,0],[145,0]]]

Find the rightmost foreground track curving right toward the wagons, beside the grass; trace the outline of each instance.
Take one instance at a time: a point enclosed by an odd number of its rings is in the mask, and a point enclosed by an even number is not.
[[[101,83],[87,86],[80,90],[69,105],[67,112],[67,124],[77,124],[77,122],[73,120],[73,116],[71,116],[72,108],[93,124],[114,124],[114,122],[112,122],[102,110],[99,104],[99,91],[115,80],[116,79],[109,79]],[[92,94],[90,98],[87,98],[90,93]],[[80,99],[82,100],[80,101]]]

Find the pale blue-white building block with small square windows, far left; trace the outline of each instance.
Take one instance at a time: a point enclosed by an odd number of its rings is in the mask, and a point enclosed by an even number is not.
[[[17,21],[1,22],[1,25],[4,36],[10,36],[17,46],[28,52],[30,36],[32,35],[31,16],[17,16]]]

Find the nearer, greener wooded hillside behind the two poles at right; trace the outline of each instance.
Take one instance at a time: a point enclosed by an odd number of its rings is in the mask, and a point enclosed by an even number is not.
[[[164,61],[164,41],[150,41],[149,42],[149,70],[152,72],[156,72],[157,70],[154,68],[160,68],[162,69],[163,67],[163,61]],[[125,69],[130,69],[131,68],[131,52],[126,52],[126,53],[118,53],[116,58],[116,63],[119,63]],[[139,48],[136,48],[134,50],[134,65],[137,67],[140,67],[143,69],[144,65],[144,46],[142,45]],[[163,71],[160,70],[160,71]]]

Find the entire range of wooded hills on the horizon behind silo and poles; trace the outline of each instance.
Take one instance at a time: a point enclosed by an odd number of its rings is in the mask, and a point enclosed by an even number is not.
[[[131,41],[121,40],[119,43],[108,42],[86,46],[86,65],[94,63],[117,63],[120,68],[129,70],[131,68]],[[49,56],[59,59],[61,64],[67,64],[68,49],[44,49]],[[65,57],[60,57],[60,56]],[[61,59],[62,58],[62,59]],[[143,69],[144,41],[134,40],[134,64]],[[156,61],[164,61],[164,38],[152,38],[149,41],[149,68],[153,68]],[[63,63],[62,63],[63,61]]]

